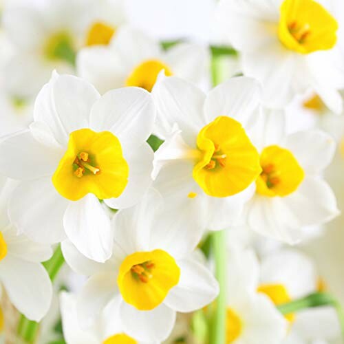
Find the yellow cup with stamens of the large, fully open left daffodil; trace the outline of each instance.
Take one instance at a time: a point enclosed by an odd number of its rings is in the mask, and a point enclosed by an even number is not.
[[[129,166],[120,141],[109,131],[79,129],[69,136],[67,151],[52,177],[61,195],[76,201],[93,193],[100,200],[118,197],[127,186]]]

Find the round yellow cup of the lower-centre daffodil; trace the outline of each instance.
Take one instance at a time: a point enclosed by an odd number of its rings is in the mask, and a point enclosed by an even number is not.
[[[153,310],[180,279],[180,268],[164,250],[136,252],[125,258],[118,273],[123,299],[138,310]]]

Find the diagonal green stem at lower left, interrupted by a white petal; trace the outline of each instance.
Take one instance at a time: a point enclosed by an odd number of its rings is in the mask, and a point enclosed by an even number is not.
[[[58,247],[54,251],[54,255],[52,255],[52,257],[48,261],[45,261],[43,263],[43,266],[45,267],[45,270],[47,270],[47,273],[52,282],[54,282],[54,279],[56,278],[56,275],[63,266],[64,262],[65,259],[63,258],[61,246],[58,245]],[[18,336],[21,337],[26,343],[32,344],[36,341],[38,332],[39,323],[27,319],[22,314],[18,325]]]

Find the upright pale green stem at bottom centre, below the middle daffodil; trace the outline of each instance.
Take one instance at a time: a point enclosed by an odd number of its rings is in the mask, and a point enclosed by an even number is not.
[[[219,296],[211,319],[211,344],[226,343],[226,233],[224,230],[211,235],[215,259],[215,276],[219,282]]]

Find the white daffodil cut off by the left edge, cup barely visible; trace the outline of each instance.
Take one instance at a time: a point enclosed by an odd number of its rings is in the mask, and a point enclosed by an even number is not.
[[[52,283],[41,261],[50,259],[52,248],[17,235],[7,216],[12,181],[1,177],[0,188],[0,283],[19,312],[41,321],[52,299]]]

